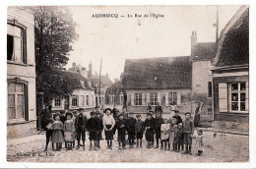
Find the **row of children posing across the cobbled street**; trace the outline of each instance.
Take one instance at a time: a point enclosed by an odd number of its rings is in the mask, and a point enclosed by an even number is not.
[[[126,148],[126,135],[128,135],[129,148],[134,147],[135,140],[137,140],[136,147],[142,147],[142,139],[145,135],[147,148],[154,147],[156,139],[157,145],[155,148],[160,147],[160,149],[175,152],[182,151],[184,154],[192,154],[192,139],[195,139],[198,148],[197,155],[203,154],[205,137],[202,130],[198,130],[197,135],[194,135],[194,124],[190,112],[185,113],[185,120],[183,121],[178,110],[175,110],[175,115],[170,119],[163,119],[160,112],[157,112],[156,118],[153,118],[153,112],[148,112],[145,121],[142,120],[140,114],[137,114],[137,119],[135,119],[131,113],[119,113],[117,118],[114,119],[111,115],[111,109],[105,109],[104,113],[102,115],[97,108],[96,111],[91,112],[91,118],[87,119],[83,115],[83,111],[80,111],[80,114],[74,119],[73,114],[67,112],[64,123],[60,121],[59,114],[54,114],[54,122],[49,130],[52,130],[52,143],[56,143],[55,150],[61,149],[63,141],[65,141],[67,150],[74,148],[75,139],[78,141],[77,149],[79,149],[81,136],[85,149],[86,131],[89,132],[90,136],[90,150],[93,148],[96,150],[100,148],[99,141],[102,140],[101,133],[103,130],[107,148],[112,149],[116,129],[119,149]]]

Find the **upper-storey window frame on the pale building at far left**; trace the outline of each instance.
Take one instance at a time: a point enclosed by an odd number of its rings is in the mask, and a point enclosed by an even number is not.
[[[19,64],[19,65],[28,65],[28,57],[27,57],[27,27],[24,26],[23,24],[19,23],[17,20],[13,19],[13,20],[7,20],[7,25],[10,25],[12,27],[16,27],[16,28],[21,28],[21,38],[22,38],[22,62],[18,62],[18,61],[13,61],[13,60],[8,60],[7,59],[7,63],[14,63],[14,64]],[[8,32],[7,32],[8,35]],[[13,34],[9,34],[11,36],[14,37]],[[14,40],[15,41],[15,40]],[[15,45],[15,42],[13,42]],[[13,49],[14,52],[15,48]],[[8,57],[8,56],[7,56]]]

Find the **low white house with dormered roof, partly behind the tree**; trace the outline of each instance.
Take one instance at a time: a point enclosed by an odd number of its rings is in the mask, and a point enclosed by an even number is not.
[[[52,111],[78,110],[84,108],[92,110],[96,106],[95,87],[88,79],[79,73],[62,71],[61,74],[73,85],[72,94],[64,98],[56,97],[52,100]]]

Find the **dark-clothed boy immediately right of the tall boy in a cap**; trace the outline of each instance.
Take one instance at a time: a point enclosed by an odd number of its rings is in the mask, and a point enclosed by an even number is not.
[[[91,118],[87,122],[87,130],[89,131],[89,140],[90,140],[90,150],[93,148],[93,141],[94,141],[94,149],[96,150],[96,135],[97,135],[97,120],[96,120],[96,113],[92,111],[90,113]]]

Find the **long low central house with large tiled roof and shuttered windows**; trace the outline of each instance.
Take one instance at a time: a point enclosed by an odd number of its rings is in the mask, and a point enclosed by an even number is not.
[[[181,112],[191,111],[190,56],[127,59],[122,75],[130,112],[146,112],[158,102],[163,113],[175,102]]]

